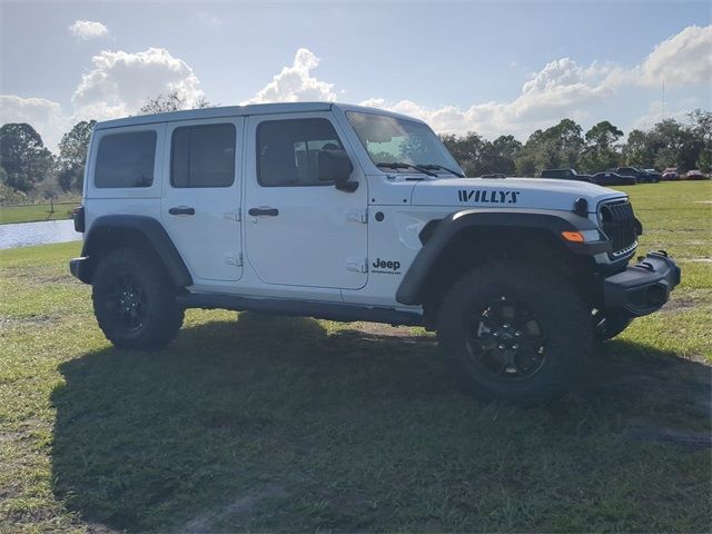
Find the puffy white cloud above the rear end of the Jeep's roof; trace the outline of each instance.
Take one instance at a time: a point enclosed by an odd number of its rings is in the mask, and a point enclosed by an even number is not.
[[[171,90],[189,106],[204,96],[190,66],[164,48],[137,53],[102,50],[91,63],[71,99],[81,119],[132,115],[147,99]]]

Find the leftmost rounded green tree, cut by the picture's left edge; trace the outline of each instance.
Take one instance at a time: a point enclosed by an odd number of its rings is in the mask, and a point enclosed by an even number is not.
[[[0,128],[0,165],[4,184],[28,192],[53,171],[55,158],[30,125],[10,122]]]

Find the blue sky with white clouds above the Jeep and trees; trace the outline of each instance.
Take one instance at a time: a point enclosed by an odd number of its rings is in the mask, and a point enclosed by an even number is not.
[[[0,119],[53,148],[178,89],[337,99],[487,137],[571,117],[624,130],[711,107],[710,2],[1,2]],[[79,22],[78,22],[79,21]],[[657,47],[657,48],[656,48]]]

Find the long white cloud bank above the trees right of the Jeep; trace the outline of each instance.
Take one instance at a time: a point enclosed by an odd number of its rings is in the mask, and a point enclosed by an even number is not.
[[[504,102],[483,102],[459,109],[453,106],[427,108],[411,100],[387,102],[370,98],[363,106],[373,106],[428,122],[443,134],[477,131],[485,137],[512,134],[525,138],[537,128],[552,126],[564,117],[585,120],[587,109],[604,102],[624,86],[704,85],[712,81],[712,26],[688,27],[664,40],[632,68],[593,62],[587,67],[571,58],[548,62],[532,73],[520,95]],[[688,109],[680,108],[668,117],[683,118]],[[660,110],[653,108],[633,127],[654,123]]]

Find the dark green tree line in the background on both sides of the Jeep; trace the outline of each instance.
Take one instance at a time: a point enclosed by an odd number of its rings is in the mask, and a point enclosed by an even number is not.
[[[141,113],[186,109],[175,91],[150,99]],[[207,107],[201,100],[197,107]],[[52,154],[32,126],[0,127],[0,204],[78,196],[83,182],[87,148],[95,120],[77,122]],[[476,132],[441,136],[467,176],[501,172],[538,176],[543,169],[572,168],[592,174],[612,167],[678,167],[680,171],[712,170],[712,112],[694,110],[686,120],[665,119],[650,129],[623,131],[607,120],[586,132],[571,119],[534,131],[522,144],[514,136],[490,141]]]

